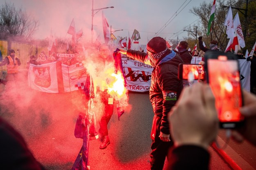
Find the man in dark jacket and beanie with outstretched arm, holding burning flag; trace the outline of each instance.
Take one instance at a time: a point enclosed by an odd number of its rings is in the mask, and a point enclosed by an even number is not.
[[[165,39],[154,37],[147,43],[147,53],[128,49],[120,50],[134,60],[154,67],[151,76],[150,101],[154,118],[151,131],[151,170],[162,170],[168,149],[173,145],[168,113],[176,104],[183,89],[178,79],[178,65],[184,63],[179,54],[166,46]]]

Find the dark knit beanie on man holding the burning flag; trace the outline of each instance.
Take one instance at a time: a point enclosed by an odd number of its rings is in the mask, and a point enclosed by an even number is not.
[[[166,41],[162,37],[154,37],[147,43],[147,51],[153,54],[159,53],[166,48]]]

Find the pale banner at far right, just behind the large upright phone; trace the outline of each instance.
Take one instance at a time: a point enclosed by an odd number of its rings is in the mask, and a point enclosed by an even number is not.
[[[238,60],[240,69],[240,81],[242,88],[250,92],[251,62],[245,59]]]

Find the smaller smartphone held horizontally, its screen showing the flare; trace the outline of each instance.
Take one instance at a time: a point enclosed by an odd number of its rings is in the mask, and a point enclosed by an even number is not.
[[[178,78],[180,80],[188,80],[188,74],[193,73],[194,80],[204,80],[204,66],[199,64],[184,64],[178,66]]]

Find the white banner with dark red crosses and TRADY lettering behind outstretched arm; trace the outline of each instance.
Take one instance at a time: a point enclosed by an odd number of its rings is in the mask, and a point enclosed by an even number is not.
[[[127,58],[122,58],[122,66],[129,91],[147,92],[150,90],[152,66],[136,60],[127,60]]]

